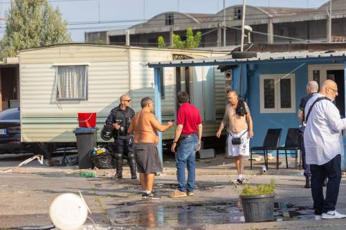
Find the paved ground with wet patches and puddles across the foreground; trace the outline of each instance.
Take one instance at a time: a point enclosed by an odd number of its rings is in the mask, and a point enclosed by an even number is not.
[[[26,156],[18,157],[22,160]],[[32,162],[20,173],[0,174],[0,229],[18,227],[19,224],[51,224],[51,202],[61,193],[78,191],[89,205],[90,217],[96,226],[104,226],[104,229],[346,229],[346,220],[313,220],[311,190],[304,189],[304,177],[298,170],[285,175],[280,175],[281,169],[277,175],[247,173],[247,183],[268,183],[274,178],[277,189],[275,221],[244,223],[239,191],[230,182],[234,175],[227,172],[227,169],[233,169],[227,164],[224,166],[223,161],[218,161],[221,162],[219,166],[213,164],[199,169],[194,197],[169,198],[168,195],[176,189],[176,176],[156,177],[154,191],[161,195],[161,200],[142,200],[140,183],[129,180],[127,166],[124,168],[125,179],[111,180],[108,175],[114,171],[98,171],[98,175],[104,176],[82,178],[72,166],[30,167],[37,164]],[[214,169],[217,167],[221,169]],[[346,180],[343,178],[336,207],[340,213],[346,213],[345,194]],[[89,224],[88,229],[96,229],[91,220],[86,224]]]

